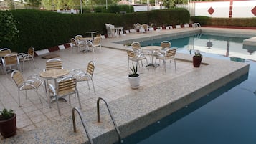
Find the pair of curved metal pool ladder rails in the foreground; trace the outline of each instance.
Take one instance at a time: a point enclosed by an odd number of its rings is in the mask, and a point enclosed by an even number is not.
[[[99,97],[98,100],[97,100],[97,116],[98,116],[98,123],[100,123],[100,100],[103,100],[103,102],[105,102],[105,105],[106,105],[107,108],[108,108],[108,112],[109,112],[109,114],[110,114],[111,120],[112,120],[112,122],[113,122],[113,124],[114,124],[114,126],[115,126],[116,132],[118,133],[118,142],[119,142],[119,143],[123,143],[122,138],[121,138],[121,135],[120,135],[120,130],[119,130],[118,126],[117,126],[116,123],[115,123],[113,114],[112,114],[112,112],[110,111],[110,109],[109,109],[109,107],[108,107],[108,103],[107,103],[103,98],[101,98],[101,97]],[[89,135],[89,133],[87,132],[87,127],[86,127],[86,125],[85,125],[85,121],[82,119],[82,112],[81,112],[77,107],[72,108],[72,121],[73,121],[73,129],[74,129],[74,132],[77,132],[77,128],[76,128],[76,125],[75,125],[75,111],[76,111],[76,112],[78,113],[78,115],[80,116],[80,119],[81,119],[81,121],[82,121],[82,126],[83,126],[84,129],[85,129],[85,133],[86,133],[86,135],[87,135],[87,138],[88,138],[89,141],[90,141],[90,144],[93,144],[93,140],[92,140],[92,138],[90,138],[90,135]]]

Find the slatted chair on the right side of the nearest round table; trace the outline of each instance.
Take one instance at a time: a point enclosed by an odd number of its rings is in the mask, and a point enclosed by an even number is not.
[[[77,82],[87,81],[89,90],[90,90],[89,81],[91,80],[93,84],[94,95],[96,95],[94,82],[93,82],[94,69],[95,69],[95,63],[93,61],[90,61],[87,64],[86,72],[84,72],[82,69],[72,69],[71,72],[73,73],[72,77],[75,77],[77,79]]]

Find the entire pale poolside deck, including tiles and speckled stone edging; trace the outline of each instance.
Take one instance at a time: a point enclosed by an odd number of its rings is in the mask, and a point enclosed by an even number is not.
[[[204,57],[205,64],[202,64],[202,67],[194,68],[191,64],[191,55],[178,52],[176,71],[173,63],[167,63],[166,73],[162,67],[155,70],[140,67],[141,87],[138,90],[132,90],[129,87],[127,55],[125,51],[117,50],[125,49],[125,47],[122,44],[113,44],[113,42],[194,30],[198,29],[172,29],[103,39],[102,51],[97,49],[95,53],[82,53],[77,49],[63,49],[54,52],[60,55],[65,69],[85,69],[90,60],[96,64],[93,76],[96,96],[93,94],[93,89],[88,90],[86,82],[78,83],[77,86],[82,102],[82,114],[95,143],[113,143],[118,140],[105,105],[100,108],[102,110],[101,123],[97,123],[96,101],[98,97],[103,97],[109,103],[116,123],[120,127],[121,135],[126,136],[247,73],[249,65],[245,63],[207,57]],[[253,33],[253,30],[244,29],[229,29],[230,31]],[[37,68],[25,69],[22,72],[24,77],[42,72],[46,59],[35,57],[35,61]],[[28,66],[25,65],[25,67]],[[71,99],[71,106],[68,102],[60,101],[62,116],[59,116],[56,103],[52,103],[52,109],[49,108],[42,87],[39,90],[39,95],[42,97],[43,106],[41,106],[36,93],[30,91],[27,92],[27,100],[24,93],[21,93],[22,107],[19,108],[17,106],[17,89],[11,80],[11,74],[0,75],[0,81],[0,108],[11,108],[16,112],[18,128],[14,137],[1,138],[1,143],[84,143],[87,141],[78,117],[76,117],[78,132],[73,133],[72,131],[71,110],[72,107],[78,107],[77,99]]]

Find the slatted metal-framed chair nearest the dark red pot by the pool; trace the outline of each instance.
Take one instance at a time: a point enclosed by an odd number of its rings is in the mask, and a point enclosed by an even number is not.
[[[164,52],[164,54],[162,54],[161,52],[158,52],[158,56],[156,57],[156,59],[163,60],[163,67],[164,67],[165,72],[166,72],[166,61],[167,60],[170,60],[170,63],[171,63],[171,60],[174,60],[174,65],[175,65],[175,70],[176,70],[176,59],[175,59],[176,49],[177,48],[167,49]],[[156,61],[155,61],[155,63],[156,63]]]

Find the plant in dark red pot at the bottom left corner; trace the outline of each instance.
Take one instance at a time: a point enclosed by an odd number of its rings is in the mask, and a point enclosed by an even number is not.
[[[16,115],[13,110],[0,111],[0,133],[4,138],[9,138],[16,134]]]

